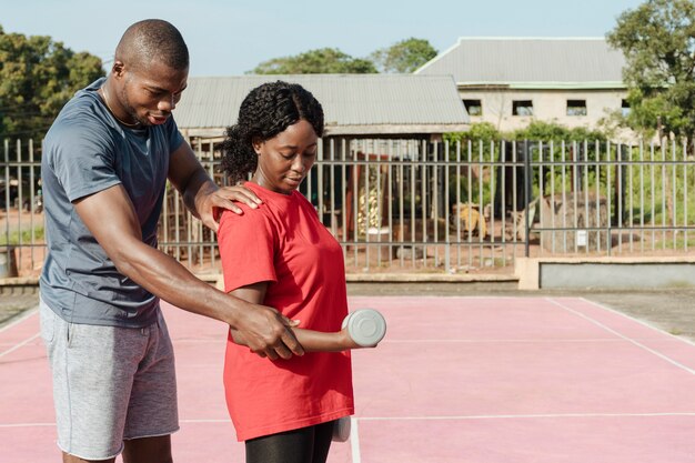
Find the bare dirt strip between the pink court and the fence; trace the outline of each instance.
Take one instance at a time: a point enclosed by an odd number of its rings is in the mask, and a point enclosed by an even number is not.
[[[695,289],[659,291],[517,291],[514,285],[480,283],[349,283],[350,295],[580,296],[695,342]],[[37,306],[39,295],[1,294],[0,328]]]

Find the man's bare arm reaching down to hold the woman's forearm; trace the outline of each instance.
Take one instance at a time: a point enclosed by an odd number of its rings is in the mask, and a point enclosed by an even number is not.
[[[292,353],[303,353],[289,328],[291,322],[278,311],[215,290],[177,260],[143,243],[133,205],[121,184],[82,198],[74,207],[119,272],[152,294],[234,326],[258,354],[289,359]]]

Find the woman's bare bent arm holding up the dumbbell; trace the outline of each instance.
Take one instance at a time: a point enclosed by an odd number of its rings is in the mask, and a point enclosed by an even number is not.
[[[244,301],[260,304],[265,300],[265,290],[268,289],[268,282],[260,282],[250,284],[248,286],[239,288],[231,292],[236,298]],[[305,330],[302,328],[292,328],[294,335],[296,336],[304,352],[340,352],[349,349],[359,349],[360,345],[355,343],[348,329],[336,331],[334,333],[325,333],[322,331]],[[246,343],[243,333],[239,332],[234,328],[230,328],[232,339],[236,344],[249,345]]]

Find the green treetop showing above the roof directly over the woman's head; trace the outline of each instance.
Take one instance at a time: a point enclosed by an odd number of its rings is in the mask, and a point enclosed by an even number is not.
[[[369,74],[375,73],[374,64],[364,59],[352,58],[335,48],[310,50],[294,57],[274,58],[260,63],[254,74]]]

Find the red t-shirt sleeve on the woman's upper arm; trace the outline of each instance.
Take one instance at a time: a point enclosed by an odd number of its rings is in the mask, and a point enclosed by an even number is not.
[[[242,215],[230,211],[222,213],[218,231],[228,292],[262,281],[278,281],[274,265],[278,233],[272,221],[260,209],[241,207]]]

